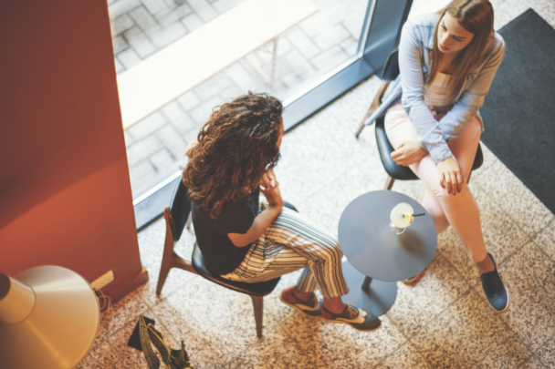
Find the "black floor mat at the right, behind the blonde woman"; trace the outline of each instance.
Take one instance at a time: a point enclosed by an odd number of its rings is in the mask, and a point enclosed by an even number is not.
[[[555,30],[529,9],[499,34],[506,52],[480,108],[482,140],[555,213]]]

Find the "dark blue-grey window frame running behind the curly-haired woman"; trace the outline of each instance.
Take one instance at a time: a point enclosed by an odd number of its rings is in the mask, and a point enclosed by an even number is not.
[[[382,71],[385,58],[399,45],[411,5],[413,0],[369,0],[357,54],[284,101],[286,132]],[[179,179],[181,172],[177,171],[133,200],[137,230],[162,215]]]

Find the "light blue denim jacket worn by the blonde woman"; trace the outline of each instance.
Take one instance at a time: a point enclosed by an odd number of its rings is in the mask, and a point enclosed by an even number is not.
[[[372,124],[393,104],[401,101],[416,128],[420,146],[428,150],[435,163],[452,157],[447,141],[460,135],[474,117],[477,116],[484,129],[478,108],[484,104],[497,67],[505,55],[505,41],[497,32],[492,32],[479,63],[466,76],[453,100],[454,107],[444,118],[435,120],[424,104],[424,81],[428,77],[430,56],[434,52],[434,31],[439,17],[435,13],[419,15],[403,25],[399,43],[401,73],[388,87],[382,105],[365,122]]]

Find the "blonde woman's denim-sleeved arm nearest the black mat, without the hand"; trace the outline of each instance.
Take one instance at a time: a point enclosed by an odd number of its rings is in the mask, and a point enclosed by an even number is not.
[[[445,138],[456,138],[463,133],[468,123],[476,117],[478,108],[484,105],[484,99],[496,76],[497,68],[505,56],[505,41],[501,36],[496,36],[496,40],[497,46],[491,50],[484,67],[480,69],[472,85],[463,92],[455,107],[439,121],[439,128],[444,132]]]

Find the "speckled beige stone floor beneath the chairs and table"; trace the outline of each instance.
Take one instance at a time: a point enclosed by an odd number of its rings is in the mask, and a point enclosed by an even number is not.
[[[555,2],[499,0],[496,28],[533,7],[555,26]],[[285,199],[301,214],[337,234],[340,214],[357,196],[380,190],[385,179],[373,128],[354,138],[359,119],[379,86],[371,78],[288,132],[277,168]],[[486,122],[487,128],[487,122]],[[126,343],[139,316],[157,322],[167,341],[183,339],[197,368],[526,368],[555,367],[555,216],[485,146],[485,163],[470,187],[487,247],[511,293],[508,313],[487,306],[478,274],[451,229],[440,235],[435,258],[415,287],[398,283],[382,328],[360,333],[310,319],[279,302],[278,292],[298,272],[282,278],[265,299],[264,338],[257,339],[250,299],[189,272],[173,271],[156,297],[164,220],[139,233],[141,260],[151,281],[102,314],[92,353],[116,368],[146,368]],[[393,190],[416,200],[418,181]],[[185,233],[177,251],[190,255]],[[81,369],[101,367],[88,356]]]

